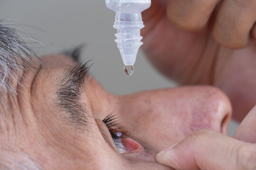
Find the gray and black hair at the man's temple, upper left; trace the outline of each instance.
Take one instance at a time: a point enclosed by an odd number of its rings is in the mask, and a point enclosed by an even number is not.
[[[16,93],[13,84],[20,71],[31,66],[31,56],[37,53],[26,45],[15,28],[5,26],[5,21],[8,20],[0,19],[0,105],[7,109],[3,96]]]

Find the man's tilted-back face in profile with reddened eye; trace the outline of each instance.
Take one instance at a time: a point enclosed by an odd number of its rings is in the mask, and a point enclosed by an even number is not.
[[[42,169],[168,170],[155,161],[161,149],[199,129],[227,131],[231,106],[213,87],[116,96],[70,57],[42,62],[20,76],[0,133],[0,148],[26,153]]]

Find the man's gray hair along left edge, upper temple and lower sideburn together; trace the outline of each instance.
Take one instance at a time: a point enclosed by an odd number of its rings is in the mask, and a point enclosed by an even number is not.
[[[15,28],[6,26],[7,20],[0,19],[0,119],[1,111],[9,109],[8,100],[16,94],[20,72],[31,67],[32,56],[37,57]],[[10,114],[11,111],[8,111]],[[1,123],[1,122],[0,122]],[[1,125],[1,124],[0,124]],[[0,127],[1,130],[1,127]],[[40,170],[39,166],[25,153],[4,149],[0,145],[0,170]]]

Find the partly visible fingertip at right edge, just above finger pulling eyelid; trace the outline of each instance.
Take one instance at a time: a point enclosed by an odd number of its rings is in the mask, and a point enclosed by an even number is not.
[[[241,122],[233,137],[245,142],[256,143],[256,106]]]

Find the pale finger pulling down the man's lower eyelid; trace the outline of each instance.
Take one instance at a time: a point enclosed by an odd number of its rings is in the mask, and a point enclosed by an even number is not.
[[[256,166],[256,145],[200,130],[156,160],[176,170],[249,170]]]

